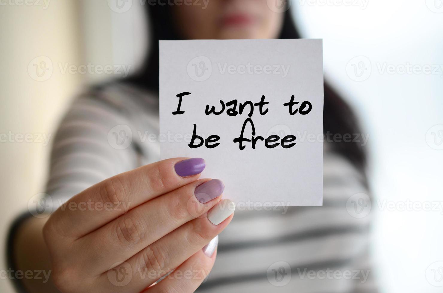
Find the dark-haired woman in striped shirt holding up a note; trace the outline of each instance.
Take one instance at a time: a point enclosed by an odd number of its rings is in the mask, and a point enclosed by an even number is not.
[[[137,135],[123,150],[110,143],[109,129],[122,124],[133,134],[159,131],[159,39],[299,37],[288,10],[270,9],[272,1],[219,0],[207,7],[198,2],[146,5],[153,45],[144,68],[74,101],[54,142],[47,193],[54,205],[77,195],[49,220],[28,217],[14,225],[10,262],[19,270],[51,272],[51,281],[24,279],[19,288],[374,292],[369,217],[353,217],[346,209],[350,196],[367,193],[358,143],[325,143],[323,207],[237,211],[234,220],[229,200],[221,199],[222,182],[198,179],[204,160],[157,162],[158,143]],[[327,84],[324,130],[359,133],[350,108]],[[195,200],[199,193],[209,198]],[[191,211],[190,201],[198,209]],[[81,208],[87,204],[92,208]]]

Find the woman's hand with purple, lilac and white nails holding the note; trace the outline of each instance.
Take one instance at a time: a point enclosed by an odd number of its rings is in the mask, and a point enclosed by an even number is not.
[[[43,235],[58,289],[194,292],[215,261],[216,244],[205,245],[235,208],[221,200],[221,181],[197,180],[204,167],[199,158],[156,162],[93,185],[54,212]]]

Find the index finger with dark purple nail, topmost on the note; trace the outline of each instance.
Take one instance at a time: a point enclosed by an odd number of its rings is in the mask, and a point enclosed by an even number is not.
[[[171,158],[118,174],[79,193],[48,220],[46,230],[78,239],[128,210],[195,181],[201,158]]]

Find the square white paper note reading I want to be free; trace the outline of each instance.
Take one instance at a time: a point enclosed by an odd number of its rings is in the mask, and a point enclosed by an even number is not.
[[[239,206],[322,205],[321,39],[160,41],[159,62],[162,159],[204,158],[202,178],[223,181],[224,197]],[[174,115],[181,93],[189,94],[183,95],[180,113]],[[260,113],[260,104],[251,107],[247,101],[259,103],[262,96],[269,103],[262,104]],[[291,96],[293,115],[284,105]],[[209,110],[222,110],[220,100],[224,112],[206,115],[207,105]],[[240,103],[245,104],[244,111],[228,115],[239,112]],[[208,146],[219,144],[209,148],[203,142],[191,148],[194,124],[197,135],[212,137]],[[252,142],[244,141],[240,150],[240,143],[234,142],[253,136],[271,136],[268,147],[257,139],[254,149]],[[198,143],[202,141],[196,139],[194,145]]]

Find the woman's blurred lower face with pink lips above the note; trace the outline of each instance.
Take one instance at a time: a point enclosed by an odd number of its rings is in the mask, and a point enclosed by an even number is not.
[[[284,13],[270,9],[267,1],[193,0],[174,5],[173,13],[184,39],[274,39]]]

